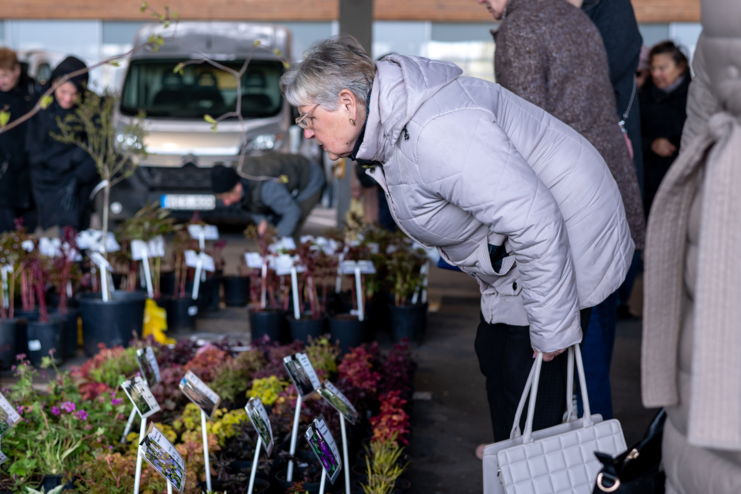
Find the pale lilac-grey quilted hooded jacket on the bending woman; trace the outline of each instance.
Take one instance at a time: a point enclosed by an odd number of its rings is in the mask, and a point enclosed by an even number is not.
[[[474,276],[491,323],[530,325],[536,350],[582,339],[579,309],[613,293],[634,244],[617,184],[571,127],[445,61],[376,64],[357,158],[399,227]],[[508,256],[496,272],[488,245]]]

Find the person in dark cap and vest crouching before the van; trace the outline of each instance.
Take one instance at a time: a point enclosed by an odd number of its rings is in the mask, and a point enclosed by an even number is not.
[[[268,223],[278,235],[297,236],[325,186],[324,172],[308,158],[295,154],[247,157],[242,178],[232,167],[211,169],[216,198],[226,207],[239,204],[262,228]]]

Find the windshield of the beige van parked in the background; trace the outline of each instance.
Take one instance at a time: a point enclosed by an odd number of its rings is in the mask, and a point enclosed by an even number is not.
[[[214,118],[236,109],[236,79],[225,70],[203,63],[173,69],[185,59],[133,60],[122,93],[121,112],[177,119]],[[219,62],[234,70],[243,61]],[[283,72],[279,61],[253,60],[242,76],[242,116],[269,117],[279,113],[283,98],[278,81]]]

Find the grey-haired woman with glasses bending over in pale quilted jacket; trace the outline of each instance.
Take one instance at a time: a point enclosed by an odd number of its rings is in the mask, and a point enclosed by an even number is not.
[[[281,86],[306,138],[368,167],[399,227],[479,281],[476,354],[500,441],[533,350],[548,362],[534,429],[560,423],[560,354],[617,290],[634,244],[617,185],[585,138],[461,72],[416,56],[374,63],[355,39],[335,36],[310,47]]]

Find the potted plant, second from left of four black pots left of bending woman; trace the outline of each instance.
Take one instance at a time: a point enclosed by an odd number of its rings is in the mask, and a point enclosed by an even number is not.
[[[299,280],[299,307],[305,307],[307,301],[309,306],[298,319],[289,313],[290,336],[293,340],[308,342],[309,337],[319,338],[327,329],[328,276],[334,278],[337,262],[325,254],[313,238],[301,242],[288,254],[296,258],[297,265],[305,268]],[[322,298],[319,298],[319,287]]]

